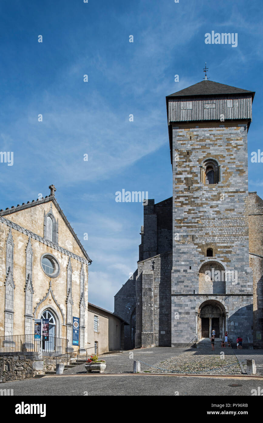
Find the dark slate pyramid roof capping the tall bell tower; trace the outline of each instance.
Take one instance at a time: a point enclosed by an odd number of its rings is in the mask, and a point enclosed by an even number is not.
[[[254,97],[255,91],[247,91],[242,88],[231,87],[230,85],[220,84],[214,81],[201,81],[197,84],[191,85],[184,90],[177,91],[167,97],[183,97],[183,96],[208,96],[215,94],[252,94]]]

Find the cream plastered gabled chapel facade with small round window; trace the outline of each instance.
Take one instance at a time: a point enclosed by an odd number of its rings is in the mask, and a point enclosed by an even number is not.
[[[3,351],[34,350],[40,337],[35,323],[41,321],[49,326],[41,345],[43,351],[60,352],[62,340],[68,351],[88,347],[86,307],[91,259],[57,203],[55,187],[49,188],[51,193],[46,198],[0,210]],[[79,330],[76,345],[72,341],[74,319]],[[19,345],[18,339],[27,345]]]

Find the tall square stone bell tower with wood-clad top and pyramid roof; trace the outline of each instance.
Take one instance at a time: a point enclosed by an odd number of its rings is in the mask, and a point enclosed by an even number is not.
[[[172,346],[252,343],[247,132],[254,92],[210,80],[166,97],[173,172]]]

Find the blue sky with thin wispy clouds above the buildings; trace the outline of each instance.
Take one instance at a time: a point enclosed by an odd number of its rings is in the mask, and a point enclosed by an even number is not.
[[[165,96],[201,81],[205,62],[212,81],[256,91],[249,157],[263,151],[262,14],[258,0],[1,1],[0,150],[14,162],[0,163],[0,208],[55,185],[93,260],[89,302],[113,310],[137,266],[143,206],[115,192],[172,196]],[[238,46],[205,44],[212,30],[238,33]],[[249,160],[261,197],[262,169]]]

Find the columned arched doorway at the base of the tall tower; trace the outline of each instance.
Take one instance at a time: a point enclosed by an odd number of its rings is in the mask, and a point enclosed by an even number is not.
[[[215,329],[215,338],[223,338],[227,330],[227,313],[222,303],[217,300],[207,300],[199,307],[197,314],[198,338],[211,338]]]

